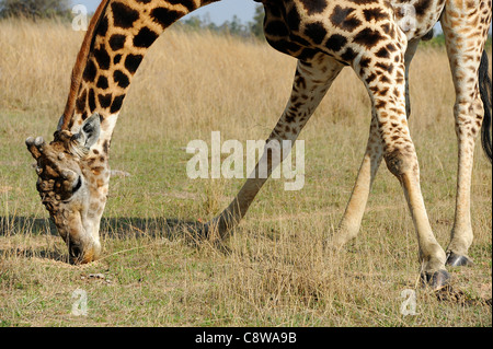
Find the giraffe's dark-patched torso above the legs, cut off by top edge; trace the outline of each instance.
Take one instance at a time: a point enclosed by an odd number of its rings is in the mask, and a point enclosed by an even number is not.
[[[264,0],[263,4],[265,37],[275,49],[301,60],[322,51],[351,63],[353,53],[375,49],[383,38],[424,36],[438,21],[445,0]]]

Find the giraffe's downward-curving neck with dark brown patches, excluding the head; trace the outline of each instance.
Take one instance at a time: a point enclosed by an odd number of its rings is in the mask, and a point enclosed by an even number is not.
[[[146,53],[183,15],[219,0],[106,0],[94,14],[72,71],[61,129],[77,132],[99,113],[101,137],[93,148],[106,154],[119,110]]]

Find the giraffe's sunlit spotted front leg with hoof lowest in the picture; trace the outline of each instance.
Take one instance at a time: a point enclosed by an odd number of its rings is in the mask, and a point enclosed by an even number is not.
[[[447,284],[449,276],[445,268],[446,255],[436,241],[429,225],[420,186],[420,167],[413,141],[410,136],[405,108],[405,68],[403,55],[386,62],[387,71],[371,54],[362,58],[365,66],[355,67],[368,90],[372,103],[376,128],[382,142],[382,155],[388,170],[399,179],[413,219],[419,242],[419,257],[422,263],[422,278],[433,289]]]

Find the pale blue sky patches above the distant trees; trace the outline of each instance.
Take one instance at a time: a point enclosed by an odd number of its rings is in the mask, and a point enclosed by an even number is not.
[[[94,11],[100,4],[100,0],[71,0],[72,4],[83,4],[90,12]],[[222,24],[225,21],[230,21],[233,15],[237,15],[242,23],[252,21],[257,2],[253,0],[222,0],[217,3],[209,4],[205,8],[194,11],[191,15],[203,16],[209,13],[210,21],[216,24]]]

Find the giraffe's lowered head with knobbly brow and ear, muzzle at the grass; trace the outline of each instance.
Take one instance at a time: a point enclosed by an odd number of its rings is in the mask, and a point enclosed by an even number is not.
[[[37,162],[36,188],[67,243],[70,263],[89,263],[101,252],[99,228],[106,202],[101,179],[88,161],[100,138],[100,116],[92,115],[76,133],[58,129],[50,143],[42,137],[25,141]]]

